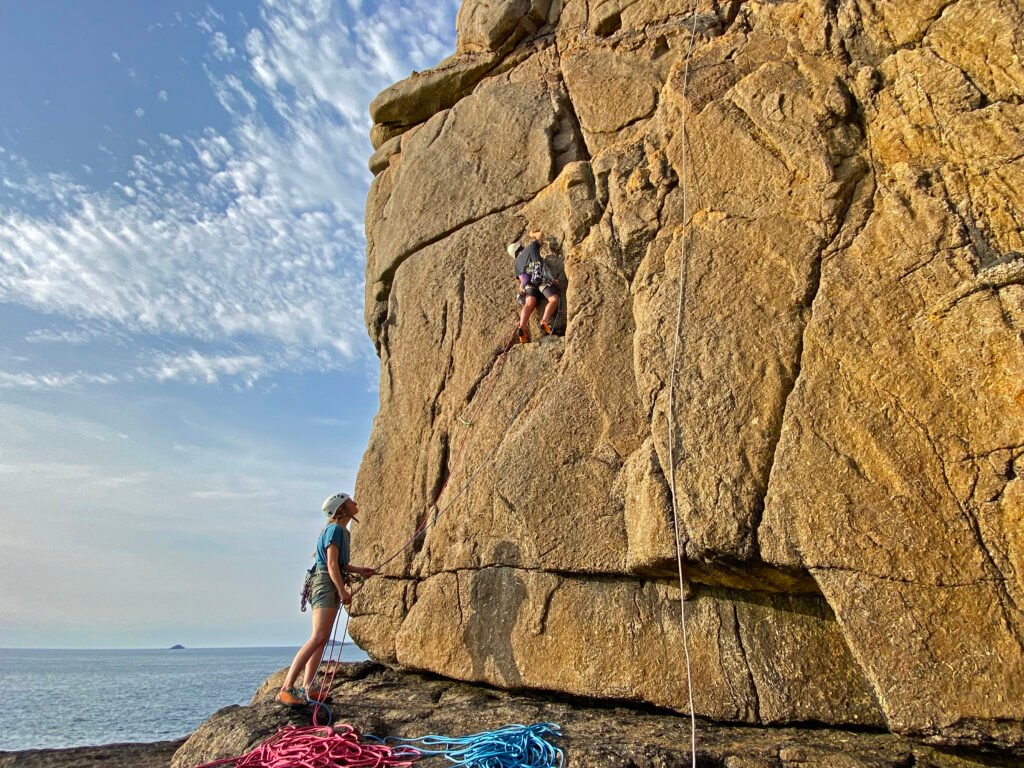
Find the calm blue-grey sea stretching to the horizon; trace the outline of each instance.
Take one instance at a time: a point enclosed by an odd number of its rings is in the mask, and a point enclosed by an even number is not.
[[[249,703],[296,650],[0,648],[0,751],[181,738],[221,707]],[[342,658],[367,655],[346,643]]]

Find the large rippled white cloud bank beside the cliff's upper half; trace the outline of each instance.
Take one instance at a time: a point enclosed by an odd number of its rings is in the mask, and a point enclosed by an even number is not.
[[[369,358],[367,105],[449,52],[458,2],[407,1],[360,16],[351,12],[358,3],[348,5],[265,3],[239,41],[215,11],[204,14],[210,86],[230,129],[165,132],[109,188],[0,155],[5,199],[14,201],[0,202],[0,302],[223,347],[147,369],[158,380],[166,372],[166,380],[251,382],[279,364],[323,370]],[[223,60],[228,53],[237,60]],[[128,375],[146,373],[116,378]],[[111,376],[14,373],[0,386]]]

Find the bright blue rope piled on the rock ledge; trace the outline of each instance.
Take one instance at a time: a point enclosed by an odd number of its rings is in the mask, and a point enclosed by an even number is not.
[[[554,723],[507,725],[470,736],[428,735],[418,738],[386,736],[376,738],[386,743],[408,744],[424,757],[443,755],[453,765],[465,768],[561,768],[562,751],[547,737],[561,736]]]

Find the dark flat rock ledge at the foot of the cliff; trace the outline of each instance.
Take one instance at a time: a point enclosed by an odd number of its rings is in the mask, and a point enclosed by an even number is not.
[[[171,768],[238,757],[309,713],[275,703],[282,670],[249,707],[214,715],[175,754]],[[670,713],[566,696],[513,693],[361,663],[340,665],[331,708],[362,734],[462,736],[512,723],[553,722],[572,768],[686,768],[690,721]],[[888,733],[829,728],[735,727],[697,722],[697,765],[725,768],[969,768],[1019,765],[1012,754],[940,751]],[[439,759],[438,759],[439,760]],[[439,763],[438,763],[439,764]]]

